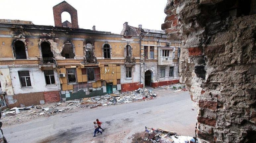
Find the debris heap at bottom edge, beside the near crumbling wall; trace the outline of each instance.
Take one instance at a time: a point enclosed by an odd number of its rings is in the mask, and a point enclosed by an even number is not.
[[[132,136],[132,143],[198,143],[195,137],[180,136],[175,131],[153,129],[145,126],[145,132]]]

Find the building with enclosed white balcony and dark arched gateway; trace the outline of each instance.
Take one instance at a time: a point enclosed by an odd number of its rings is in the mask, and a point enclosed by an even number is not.
[[[125,22],[125,36],[140,36],[141,83],[159,87],[179,82],[180,39],[167,39],[165,31],[138,28]],[[145,82],[143,82],[145,81]]]

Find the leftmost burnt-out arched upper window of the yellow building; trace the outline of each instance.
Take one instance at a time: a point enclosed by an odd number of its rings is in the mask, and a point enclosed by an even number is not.
[[[22,41],[16,41],[15,46],[15,57],[16,59],[26,59],[26,48]]]

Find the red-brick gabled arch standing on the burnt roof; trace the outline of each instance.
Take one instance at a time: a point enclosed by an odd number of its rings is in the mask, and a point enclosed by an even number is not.
[[[68,4],[66,1],[59,3],[56,6],[53,6],[53,17],[54,17],[54,25],[58,27],[62,27],[61,22],[61,14],[62,12],[66,11],[70,14],[71,17],[71,28],[78,28],[78,18],[77,18],[77,11],[73,6]]]

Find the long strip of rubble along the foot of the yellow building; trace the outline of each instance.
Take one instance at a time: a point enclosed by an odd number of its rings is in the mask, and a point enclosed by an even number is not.
[[[23,123],[38,117],[50,116],[64,112],[76,112],[78,108],[96,108],[99,106],[110,106],[115,104],[131,103],[134,101],[146,101],[153,99],[157,95],[151,90],[139,88],[132,92],[116,93],[110,95],[96,96],[91,98],[83,98],[72,101],[61,101],[57,103],[41,104],[37,106],[14,107],[2,111],[2,122],[6,126],[17,123]]]

